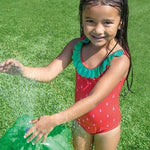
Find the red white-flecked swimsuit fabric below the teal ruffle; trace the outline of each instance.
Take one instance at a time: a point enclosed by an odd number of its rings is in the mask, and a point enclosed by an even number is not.
[[[100,78],[100,77],[99,77]],[[76,102],[89,96],[99,78],[90,79],[77,74]],[[112,92],[102,100],[93,110],[77,119],[78,123],[89,133],[109,131],[120,124],[119,92],[123,82],[120,82]]]

